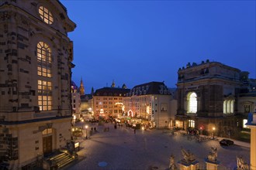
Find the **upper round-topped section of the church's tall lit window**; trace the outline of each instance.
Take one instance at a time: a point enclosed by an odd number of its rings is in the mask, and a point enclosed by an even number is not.
[[[51,77],[51,49],[47,43],[37,43],[37,75]]]

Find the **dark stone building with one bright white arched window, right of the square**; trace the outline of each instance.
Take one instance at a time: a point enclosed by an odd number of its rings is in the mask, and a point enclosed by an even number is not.
[[[179,69],[176,127],[236,136],[246,116],[241,105],[254,108],[255,97],[243,102],[238,93],[247,87],[247,76],[247,72],[208,59]]]

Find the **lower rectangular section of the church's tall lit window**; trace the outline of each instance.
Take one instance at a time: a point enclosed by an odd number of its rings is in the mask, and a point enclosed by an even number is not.
[[[52,110],[52,83],[38,80],[38,106],[40,110]]]

